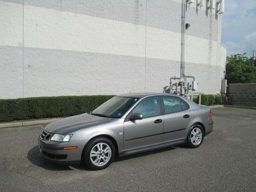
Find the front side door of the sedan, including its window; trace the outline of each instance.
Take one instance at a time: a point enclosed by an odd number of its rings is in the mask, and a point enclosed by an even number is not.
[[[131,121],[133,114],[143,119]],[[163,143],[163,114],[158,96],[140,101],[124,121],[124,151]]]

